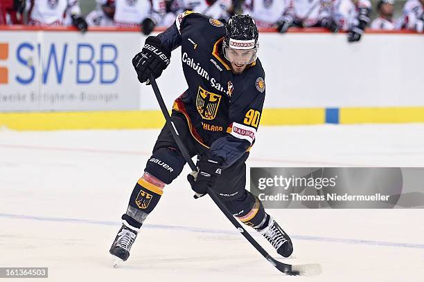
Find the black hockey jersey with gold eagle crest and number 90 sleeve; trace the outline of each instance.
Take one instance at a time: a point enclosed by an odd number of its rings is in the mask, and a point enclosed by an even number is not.
[[[254,143],[265,99],[259,59],[240,75],[222,55],[224,24],[186,11],[158,35],[166,48],[181,46],[188,89],[173,109],[184,113],[193,138],[231,165]]]

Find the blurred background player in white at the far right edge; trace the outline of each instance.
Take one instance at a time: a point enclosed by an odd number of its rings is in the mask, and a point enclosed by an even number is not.
[[[408,0],[403,6],[403,28],[424,32],[424,0]]]

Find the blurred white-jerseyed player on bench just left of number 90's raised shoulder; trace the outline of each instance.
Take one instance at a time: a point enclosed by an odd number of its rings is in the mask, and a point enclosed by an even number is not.
[[[114,21],[119,27],[141,27],[150,35],[165,15],[165,0],[116,0]]]

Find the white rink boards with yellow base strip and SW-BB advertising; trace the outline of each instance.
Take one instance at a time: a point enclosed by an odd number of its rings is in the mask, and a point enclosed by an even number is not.
[[[424,122],[424,37],[370,32],[358,44],[323,30],[260,32],[261,125]],[[19,36],[17,36],[19,35]],[[136,30],[0,28],[0,126],[146,129],[164,124],[132,56]],[[170,108],[186,89],[179,50],[158,79]]]

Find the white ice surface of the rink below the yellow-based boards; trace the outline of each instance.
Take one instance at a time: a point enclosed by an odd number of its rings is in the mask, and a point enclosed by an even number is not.
[[[209,198],[193,200],[188,167],[113,269],[108,250],[158,133],[0,131],[0,267],[49,267],[48,281],[424,281],[424,209],[270,210],[293,257],[255,238],[281,261],[323,267],[284,276]],[[257,138],[249,166],[424,167],[424,124],[262,127]]]

